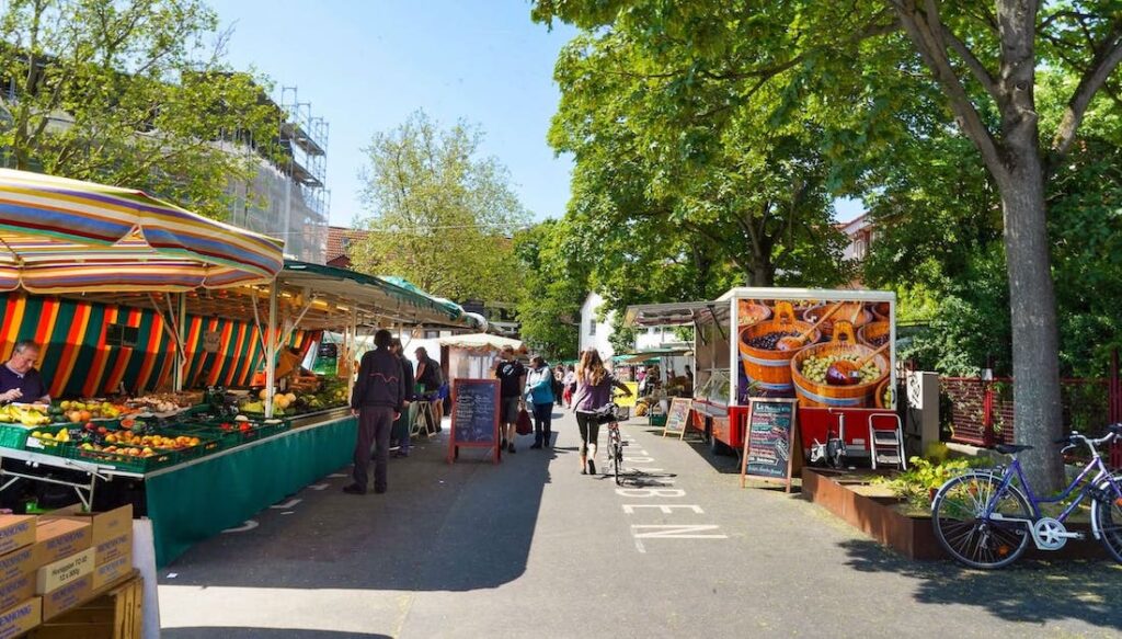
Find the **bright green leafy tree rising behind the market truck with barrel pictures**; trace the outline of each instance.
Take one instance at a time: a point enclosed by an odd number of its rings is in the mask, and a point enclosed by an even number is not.
[[[699,82],[683,98],[662,80],[681,56],[653,55],[643,38],[583,34],[559,57],[550,142],[577,158],[570,210],[595,210],[634,245],[707,245],[751,285],[772,285],[778,273],[807,285],[844,281],[813,124],[769,126],[758,100],[735,104],[721,84]],[[668,125],[657,113],[675,101],[701,116]]]

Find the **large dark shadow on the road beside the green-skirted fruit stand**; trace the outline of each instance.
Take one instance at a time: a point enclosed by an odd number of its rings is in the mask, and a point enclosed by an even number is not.
[[[293,495],[301,503],[259,512],[252,530],[194,546],[162,570],[160,583],[416,592],[514,581],[525,572],[557,454],[531,450],[533,437],[524,436],[502,464],[481,455],[448,464],[447,437],[445,429],[392,459],[386,494],[348,495],[349,477],[324,480],[322,491]]]

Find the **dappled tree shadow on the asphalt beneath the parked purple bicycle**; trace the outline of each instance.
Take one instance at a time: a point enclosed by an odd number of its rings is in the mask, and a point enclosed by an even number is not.
[[[1006,621],[1046,623],[1078,619],[1122,630],[1122,566],[1094,562],[1023,562],[995,572],[951,562],[912,562],[874,541],[840,544],[847,565],[864,573],[899,573],[916,581],[919,603],[984,609]]]

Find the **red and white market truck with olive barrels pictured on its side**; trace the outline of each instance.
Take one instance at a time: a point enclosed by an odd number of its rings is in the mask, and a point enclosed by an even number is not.
[[[873,429],[902,438],[891,291],[737,287],[712,301],[628,307],[625,325],[693,326],[690,427],[715,450],[743,449],[753,398],[797,400],[806,450],[840,437],[857,457],[870,454]],[[839,380],[838,359],[861,368]]]

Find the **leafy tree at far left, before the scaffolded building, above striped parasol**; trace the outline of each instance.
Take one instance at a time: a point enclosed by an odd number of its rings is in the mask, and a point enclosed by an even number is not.
[[[199,0],[11,0],[0,11],[6,165],[141,188],[223,218],[276,153],[267,82],[233,73]],[[211,38],[211,46],[206,40]]]

